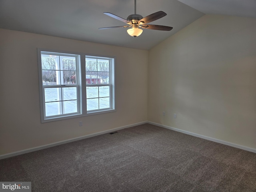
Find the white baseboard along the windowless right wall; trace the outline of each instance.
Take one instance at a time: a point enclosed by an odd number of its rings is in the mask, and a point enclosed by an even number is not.
[[[169,127],[169,126],[158,124],[158,123],[154,123],[154,122],[148,122],[148,123],[152,124],[152,125],[156,125],[156,126],[162,127],[162,128],[178,131],[178,132],[181,132],[181,133],[184,133],[184,134],[192,135],[192,136],[195,136],[195,137],[203,138],[203,139],[210,140],[210,141],[213,141],[213,142],[221,143],[221,144],[224,144],[224,145],[228,145],[228,146],[232,146],[232,147],[235,147],[235,148],[239,148],[239,149],[242,149],[242,150],[246,150],[246,151],[250,151],[250,152],[256,153],[256,149],[254,149],[254,148],[250,148],[250,147],[246,147],[246,146],[230,143],[230,142],[227,142],[227,141],[223,141],[223,140],[211,138],[211,137],[208,137],[208,136],[204,136],[204,135],[200,135],[200,134],[184,131],[184,130],[181,130],[181,129]]]

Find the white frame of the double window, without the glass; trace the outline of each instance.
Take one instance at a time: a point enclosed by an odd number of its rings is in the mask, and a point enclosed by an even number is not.
[[[42,60],[41,55],[42,54],[54,54],[54,55],[64,55],[64,56],[76,56],[77,57],[77,66],[76,66],[76,87],[78,88],[77,92],[77,108],[78,112],[72,113],[72,114],[61,114],[61,115],[55,115],[55,116],[46,116],[46,110],[45,110],[45,100],[44,100],[44,88],[48,87],[74,87],[74,85],[66,85],[66,86],[45,86],[42,82]],[[85,63],[86,63],[86,57],[88,58],[99,58],[99,59],[108,59],[110,66],[109,66],[109,72],[110,72],[110,78],[109,78],[109,84],[93,84],[88,85],[86,84],[86,70],[85,70]],[[70,119],[70,118],[78,118],[82,116],[89,116],[89,115],[96,115],[96,114],[102,114],[102,113],[108,113],[108,112],[115,112],[115,86],[114,86],[114,67],[115,66],[115,58],[109,57],[109,56],[95,56],[88,54],[81,54],[81,53],[73,53],[73,52],[66,52],[66,51],[56,51],[56,50],[46,50],[46,49],[40,49],[38,48],[38,75],[39,75],[39,93],[40,93],[40,110],[41,110],[41,122],[52,122],[56,120],[64,120],[64,119]],[[110,108],[104,108],[104,109],[98,109],[98,110],[90,110],[87,111],[87,103],[86,103],[86,88],[87,86],[109,86],[110,87]]]

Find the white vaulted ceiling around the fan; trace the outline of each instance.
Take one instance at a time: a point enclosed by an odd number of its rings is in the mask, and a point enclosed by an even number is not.
[[[126,19],[134,0],[0,0],[0,28],[149,50],[204,14],[256,17],[256,0],[137,0],[136,9],[143,17],[166,12],[150,24],[173,30],[144,29],[133,38],[128,28],[98,29],[125,25],[103,12]]]

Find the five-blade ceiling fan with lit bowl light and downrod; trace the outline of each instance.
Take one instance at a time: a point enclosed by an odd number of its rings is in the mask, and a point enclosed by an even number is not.
[[[115,26],[115,27],[103,27],[103,28],[99,28],[99,29],[110,29],[110,28],[119,28],[119,27],[124,27],[124,28],[132,27],[132,28],[128,29],[127,32],[128,32],[128,34],[130,36],[133,36],[133,37],[137,37],[140,34],[142,34],[143,30],[140,29],[140,28],[162,30],[162,31],[170,31],[170,30],[172,30],[172,27],[168,27],[168,26],[147,24],[149,22],[158,20],[158,19],[166,16],[167,14],[165,12],[158,11],[158,12],[155,12],[155,13],[153,13],[151,15],[146,16],[146,17],[142,17],[141,15],[136,14],[136,0],[134,0],[134,4],[135,4],[135,6],[134,6],[135,7],[134,8],[134,10],[135,10],[134,14],[129,15],[127,17],[127,20],[122,18],[122,17],[119,17],[117,15],[114,15],[112,13],[104,12],[104,14],[106,14],[106,15],[112,17],[112,18],[115,18],[117,20],[120,20],[122,22],[125,22],[128,25],[125,25],[125,26]]]

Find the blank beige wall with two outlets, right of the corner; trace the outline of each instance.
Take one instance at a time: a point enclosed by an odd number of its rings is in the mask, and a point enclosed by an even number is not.
[[[205,15],[152,48],[148,70],[149,121],[256,149],[256,18]]]

